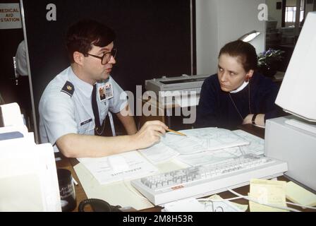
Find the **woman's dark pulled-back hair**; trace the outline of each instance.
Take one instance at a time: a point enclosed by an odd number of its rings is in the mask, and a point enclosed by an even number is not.
[[[257,69],[257,53],[255,52],[255,47],[248,42],[241,40],[229,42],[221,48],[219,57],[221,57],[221,54],[229,54],[231,57],[238,57],[245,71]]]

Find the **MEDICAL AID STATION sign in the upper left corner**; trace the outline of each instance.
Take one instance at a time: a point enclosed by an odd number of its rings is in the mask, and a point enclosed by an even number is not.
[[[20,4],[0,4],[0,29],[22,28]]]

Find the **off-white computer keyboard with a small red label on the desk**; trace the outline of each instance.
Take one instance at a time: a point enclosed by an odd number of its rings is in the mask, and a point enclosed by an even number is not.
[[[286,172],[286,162],[252,154],[216,164],[199,165],[134,179],[130,183],[154,205],[182,198],[203,197],[249,184],[250,179],[269,179]]]

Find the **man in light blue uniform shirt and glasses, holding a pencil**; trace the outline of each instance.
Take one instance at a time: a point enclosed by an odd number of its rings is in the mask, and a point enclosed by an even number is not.
[[[137,131],[133,117],[123,114],[128,109],[126,93],[110,76],[116,63],[114,39],[114,31],[95,20],[81,20],[68,29],[71,66],[47,85],[39,101],[41,141],[66,157],[102,157],[147,148],[167,129],[161,121],[147,121]],[[127,136],[96,136],[102,134],[108,112],[116,114]]]

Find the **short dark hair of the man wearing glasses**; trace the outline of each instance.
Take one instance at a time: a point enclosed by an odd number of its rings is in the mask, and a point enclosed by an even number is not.
[[[106,47],[115,40],[114,30],[96,20],[80,20],[68,28],[66,46],[71,63],[74,62],[73,53],[80,52],[87,57],[92,44]]]

